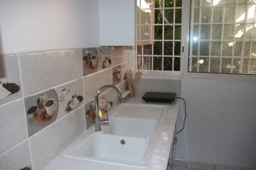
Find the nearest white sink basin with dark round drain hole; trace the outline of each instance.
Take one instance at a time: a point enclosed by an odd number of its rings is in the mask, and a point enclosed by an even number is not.
[[[122,143],[120,142],[122,140]],[[75,154],[99,160],[136,162],[144,158],[149,138],[93,133],[76,149]]]

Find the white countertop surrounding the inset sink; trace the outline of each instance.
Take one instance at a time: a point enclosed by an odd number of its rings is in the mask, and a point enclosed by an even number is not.
[[[131,98],[126,103],[137,103],[137,104],[157,104],[157,105],[168,105],[168,112],[164,119],[163,126],[161,128],[159,138],[155,145],[150,163],[146,169],[148,170],[166,170],[167,162],[169,159],[169,152],[172,147],[173,136],[175,132],[175,125],[176,119],[179,109],[180,100],[176,99],[171,104],[167,103],[146,103],[144,102],[140,96],[136,96]],[[94,128],[92,126],[91,128]],[[83,132],[81,136],[85,135],[87,131]],[[79,138],[79,137],[78,137]],[[76,143],[77,139],[72,142],[69,147]],[[67,148],[69,148],[67,147]],[[79,159],[72,159],[63,156],[63,153],[66,152],[67,149],[63,150],[60,154],[58,154],[52,161],[50,161],[43,170],[53,170],[53,169],[61,169],[61,170],[132,170],[132,169],[145,169],[139,167],[131,167],[131,166],[124,166],[124,165],[117,165],[117,164],[110,164],[110,163],[101,163],[101,162],[93,162],[87,160],[79,160]]]

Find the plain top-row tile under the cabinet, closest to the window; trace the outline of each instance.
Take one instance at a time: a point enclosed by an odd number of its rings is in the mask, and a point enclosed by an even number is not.
[[[127,61],[126,46],[113,47],[113,65],[122,64]]]

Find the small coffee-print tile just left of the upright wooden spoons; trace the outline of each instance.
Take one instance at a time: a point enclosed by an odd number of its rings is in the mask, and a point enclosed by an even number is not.
[[[126,71],[126,64],[113,67],[113,84],[114,85],[117,85],[118,83],[127,79],[125,71]]]

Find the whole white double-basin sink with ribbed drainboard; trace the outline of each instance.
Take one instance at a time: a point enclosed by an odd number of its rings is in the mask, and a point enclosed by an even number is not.
[[[110,113],[109,126],[89,129],[63,156],[146,168],[164,118],[164,105],[121,104]]]

